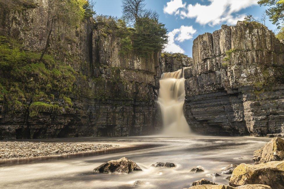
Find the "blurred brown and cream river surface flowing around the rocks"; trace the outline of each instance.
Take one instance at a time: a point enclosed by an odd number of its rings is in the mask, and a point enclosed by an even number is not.
[[[253,163],[253,151],[269,141],[264,137],[112,137],[31,140],[33,142],[105,142],[129,149],[105,151],[102,154],[63,159],[7,162],[0,165],[0,188],[133,188],[137,180],[147,181],[139,188],[189,188],[193,181],[205,178],[228,184],[228,175],[210,178],[206,174],[219,173],[227,165]],[[245,156],[244,159],[234,158]],[[93,174],[92,170],[109,160],[127,157],[143,171],[127,175]],[[173,162],[175,168],[150,167],[155,162]],[[190,174],[191,168],[201,166],[205,172]]]

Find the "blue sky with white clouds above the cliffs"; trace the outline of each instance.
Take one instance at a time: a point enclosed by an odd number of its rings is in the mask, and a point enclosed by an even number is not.
[[[121,17],[120,0],[94,0],[98,15]],[[193,40],[203,33],[221,29],[223,24],[236,25],[248,14],[261,19],[267,7],[258,0],[145,0],[146,8],[156,10],[159,21],[166,24],[169,42],[164,51],[192,56]],[[269,19],[266,26],[275,30]]]

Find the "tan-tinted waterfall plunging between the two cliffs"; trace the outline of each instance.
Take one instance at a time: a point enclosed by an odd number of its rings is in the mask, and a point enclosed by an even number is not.
[[[185,100],[184,68],[164,73],[160,79],[158,103],[165,134],[187,134],[189,125],[183,114]]]

